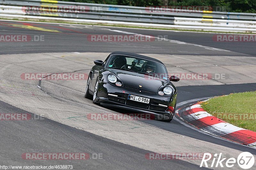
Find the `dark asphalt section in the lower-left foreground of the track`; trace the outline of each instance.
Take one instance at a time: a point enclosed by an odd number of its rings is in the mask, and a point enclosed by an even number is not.
[[[0,113],[28,113],[0,101]],[[31,117],[35,117],[30,113]],[[38,117],[37,117],[38,118]],[[49,166],[72,165],[73,169],[197,169],[182,160],[147,160],[143,149],[122,144],[83,130],[49,120],[1,121],[0,165]],[[22,153],[89,153],[102,154],[102,159],[88,160],[23,160]],[[204,168],[203,168],[204,169]],[[205,168],[206,169],[206,168]]]

